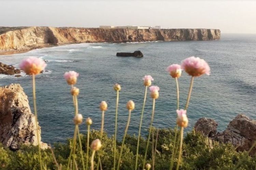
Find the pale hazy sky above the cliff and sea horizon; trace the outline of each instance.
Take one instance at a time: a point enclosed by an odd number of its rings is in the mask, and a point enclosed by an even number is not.
[[[0,0],[0,26],[99,25],[256,33],[256,0]]]

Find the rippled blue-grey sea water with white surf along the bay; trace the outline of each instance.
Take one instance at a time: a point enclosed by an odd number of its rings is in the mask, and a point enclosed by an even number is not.
[[[116,57],[116,52],[141,50],[142,58]],[[118,112],[118,137],[122,138],[128,111],[126,103],[135,102],[128,133],[138,133],[141,108],[144,97],[142,78],[152,75],[153,85],[160,87],[156,100],[154,126],[174,127],[176,122],[176,85],[166,68],[180,64],[189,56],[204,58],[211,67],[211,75],[195,78],[187,115],[190,131],[201,117],[213,118],[218,130],[223,131],[237,115],[245,114],[256,119],[256,35],[223,34],[218,41],[171,41],[145,43],[84,43],[35,49],[23,54],[0,56],[0,62],[18,67],[28,56],[41,57],[49,61],[48,72],[37,76],[38,119],[44,142],[65,141],[74,131],[74,108],[70,86],[63,74],[74,70],[79,72],[76,87],[80,88],[79,112],[84,119],[93,119],[94,129],[100,129],[101,112],[99,103],[105,100],[104,129],[111,136],[114,133],[115,100],[114,83],[122,85]],[[0,86],[19,83],[28,95],[32,105],[32,80],[23,74],[22,78],[0,75]],[[184,107],[190,83],[190,76],[183,72],[179,79],[180,106]],[[147,96],[142,134],[150,124],[152,99]],[[85,133],[86,125],[80,126]]]

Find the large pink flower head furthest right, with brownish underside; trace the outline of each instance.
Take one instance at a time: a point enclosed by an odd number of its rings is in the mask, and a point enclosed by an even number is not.
[[[181,68],[192,76],[210,75],[209,65],[199,57],[192,56],[186,58],[181,62]]]

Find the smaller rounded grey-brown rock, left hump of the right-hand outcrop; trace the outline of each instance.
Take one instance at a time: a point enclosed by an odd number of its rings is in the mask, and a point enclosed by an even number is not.
[[[212,137],[217,133],[217,126],[215,120],[200,118],[195,124],[195,131],[201,132],[204,136]]]

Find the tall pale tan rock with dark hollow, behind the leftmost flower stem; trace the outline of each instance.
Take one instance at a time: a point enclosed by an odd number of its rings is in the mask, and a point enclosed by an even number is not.
[[[41,141],[41,129],[38,127]],[[0,142],[11,150],[19,149],[20,144],[37,145],[35,117],[19,84],[0,87]],[[41,147],[48,146],[41,142]]]

